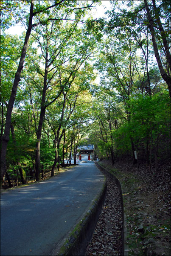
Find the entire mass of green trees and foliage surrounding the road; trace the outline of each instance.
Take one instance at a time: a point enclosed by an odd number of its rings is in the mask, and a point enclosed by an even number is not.
[[[170,1],[97,4],[1,1],[1,182],[53,176],[86,135],[112,164],[170,157]]]

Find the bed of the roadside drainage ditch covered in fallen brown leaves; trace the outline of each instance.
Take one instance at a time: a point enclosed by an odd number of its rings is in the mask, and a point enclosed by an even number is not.
[[[86,255],[124,255],[123,199],[119,180],[101,163],[107,179],[107,195]],[[127,249],[127,248],[126,248]]]

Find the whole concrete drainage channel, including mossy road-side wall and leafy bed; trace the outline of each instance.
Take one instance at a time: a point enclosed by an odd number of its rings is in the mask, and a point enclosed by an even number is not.
[[[121,184],[107,169],[98,163],[96,166],[106,176],[107,182],[104,183],[101,193],[95,198],[84,219],[80,220],[67,239],[62,241],[59,253],[56,255],[102,255],[98,254],[101,247],[104,255],[124,255]],[[96,232],[96,226],[101,226],[97,228],[98,232]],[[108,254],[111,252],[112,254]]]

